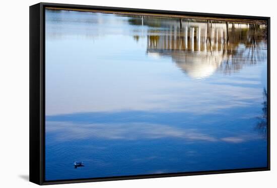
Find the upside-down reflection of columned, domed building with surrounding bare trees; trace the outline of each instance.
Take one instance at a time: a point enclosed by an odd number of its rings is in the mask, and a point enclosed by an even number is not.
[[[206,78],[217,70],[231,74],[266,60],[263,27],[212,21],[180,21],[178,25],[176,21],[165,31],[148,30],[147,53],[171,56],[191,78]]]

